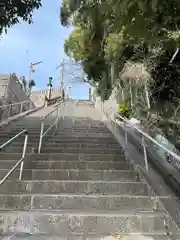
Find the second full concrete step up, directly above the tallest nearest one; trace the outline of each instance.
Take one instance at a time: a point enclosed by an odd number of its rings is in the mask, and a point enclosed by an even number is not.
[[[97,211],[153,212],[158,205],[156,198],[147,196],[79,195],[79,194],[18,194],[0,195],[0,210],[48,210],[48,211]]]

